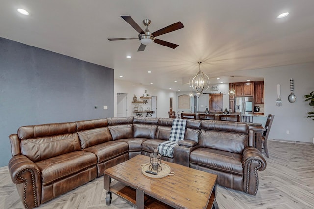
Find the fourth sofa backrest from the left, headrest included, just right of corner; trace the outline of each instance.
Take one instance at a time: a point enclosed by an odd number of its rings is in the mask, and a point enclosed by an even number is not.
[[[158,118],[134,117],[134,137],[154,139],[157,130]]]

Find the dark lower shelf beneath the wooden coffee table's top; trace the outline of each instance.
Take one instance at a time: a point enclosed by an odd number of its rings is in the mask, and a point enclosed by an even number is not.
[[[112,193],[129,201],[131,204],[136,205],[136,189],[131,188],[130,186],[127,186],[118,181],[111,182],[110,192],[107,192],[107,195],[106,195],[107,205],[111,204]],[[218,209],[218,205],[216,205],[215,199],[216,199],[215,194],[213,192],[209,199],[207,209]],[[144,195],[144,209],[174,209],[174,208],[145,194]]]

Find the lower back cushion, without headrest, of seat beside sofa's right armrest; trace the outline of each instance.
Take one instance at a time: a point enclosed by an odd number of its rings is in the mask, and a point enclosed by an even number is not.
[[[202,129],[198,146],[242,154],[244,148],[248,146],[248,136],[235,132]]]

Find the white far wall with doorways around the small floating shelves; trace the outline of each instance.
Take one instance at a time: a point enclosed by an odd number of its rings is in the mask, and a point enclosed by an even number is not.
[[[145,86],[140,84],[135,84],[127,81],[114,80],[114,117],[117,116],[117,93],[127,93],[128,94],[128,116],[135,116],[134,106],[132,103],[134,94],[139,99],[140,96],[143,96],[145,90],[150,96],[157,97],[157,117],[169,117],[168,111],[170,108],[170,97],[173,98],[172,105],[173,107],[177,107],[177,97],[176,92],[164,89],[153,88],[151,86]],[[150,99],[148,100],[147,105],[142,105],[145,110],[147,107],[151,106]],[[137,104],[138,105],[138,104]],[[138,105],[141,107],[140,105]]]

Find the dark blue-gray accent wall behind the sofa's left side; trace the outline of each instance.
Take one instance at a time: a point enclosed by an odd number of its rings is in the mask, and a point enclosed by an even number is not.
[[[111,68],[0,38],[0,167],[20,126],[113,117],[113,82]]]

